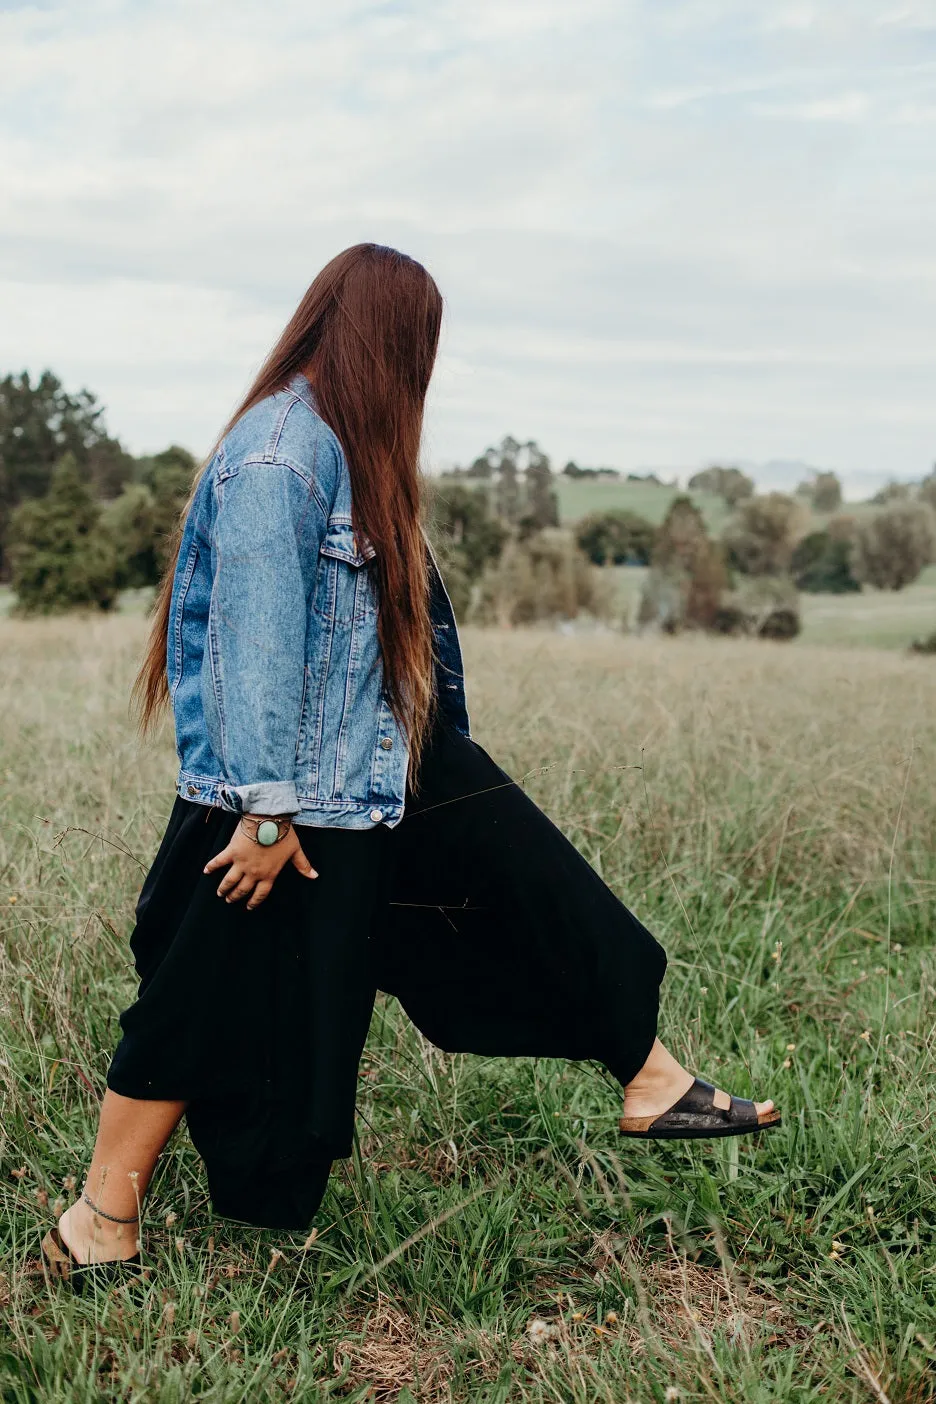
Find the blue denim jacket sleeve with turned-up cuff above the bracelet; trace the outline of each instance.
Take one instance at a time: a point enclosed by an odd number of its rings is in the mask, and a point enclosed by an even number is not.
[[[306,601],[323,532],[309,484],[282,463],[246,463],[219,484],[208,646],[219,760],[241,813],[299,810]]]

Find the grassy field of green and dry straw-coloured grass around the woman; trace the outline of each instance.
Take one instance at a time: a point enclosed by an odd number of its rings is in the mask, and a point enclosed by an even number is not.
[[[149,1280],[46,1283],[173,795],[143,629],[0,621],[4,1404],[935,1397],[933,664],[884,650],[466,640],[479,739],[667,946],[665,1039],[783,1130],[620,1141],[598,1067],[452,1057],[385,1001],[314,1237],[212,1221],[180,1134]]]

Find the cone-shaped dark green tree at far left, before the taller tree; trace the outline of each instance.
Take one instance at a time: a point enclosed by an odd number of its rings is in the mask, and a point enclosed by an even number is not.
[[[55,614],[80,605],[109,609],[114,604],[116,552],[100,526],[100,507],[73,453],[53,469],[45,497],[14,511],[10,560],[21,614]]]

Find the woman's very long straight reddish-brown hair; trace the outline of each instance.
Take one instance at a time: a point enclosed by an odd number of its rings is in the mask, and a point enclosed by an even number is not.
[[[382,244],[345,249],[313,281],[220,435],[297,371],[307,375],[319,413],[345,453],[354,529],[376,550],[369,569],[376,570],[385,688],[408,734],[414,767],[432,701],[418,458],[441,323],[442,296],[422,264]],[[178,538],[181,522],[133,685],[143,730],[168,701],[166,649]]]

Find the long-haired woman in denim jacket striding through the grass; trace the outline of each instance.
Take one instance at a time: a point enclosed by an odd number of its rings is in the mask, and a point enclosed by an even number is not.
[[[305,1230],[351,1153],[379,988],[452,1052],[599,1059],[624,1134],[779,1125],[671,1057],[661,948],[470,740],[420,524],[441,314],[418,263],[345,250],[192,493],[138,680],[145,724],[171,702],[180,757],[131,941],[139,995],[83,1195],[44,1244],[76,1280],[138,1261],[182,1115],[218,1214]]]

